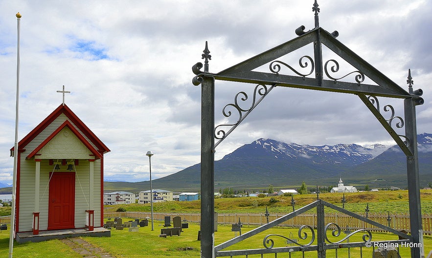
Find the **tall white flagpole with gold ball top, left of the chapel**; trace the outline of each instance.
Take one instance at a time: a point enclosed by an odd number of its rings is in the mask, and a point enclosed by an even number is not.
[[[18,44],[17,44],[17,101],[15,109],[15,145],[14,145],[14,174],[12,181],[12,213],[10,219],[10,237],[9,237],[9,258],[12,258],[14,248],[14,233],[15,233],[15,194],[17,191],[17,169],[18,169],[18,100],[20,96],[20,30],[21,30],[21,14],[17,13],[17,29],[18,29]]]

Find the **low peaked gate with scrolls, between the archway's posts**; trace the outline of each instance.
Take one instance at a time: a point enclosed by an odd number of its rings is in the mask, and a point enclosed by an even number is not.
[[[275,254],[275,257],[278,253],[295,253],[295,252],[305,252],[316,251],[318,252],[318,257],[325,257],[326,250],[336,249],[344,249],[344,248],[360,248],[360,256],[363,257],[363,248],[370,248],[372,241],[372,233],[367,229],[359,229],[353,232],[346,233],[345,237],[341,237],[341,227],[336,224],[334,221],[327,221],[325,223],[325,217],[323,214],[324,207],[328,207],[334,209],[340,213],[349,215],[351,217],[357,218],[359,220],[364,221],[365,223],[371,224],[377,228],[382,229],[383,231],[387,231],[393,233],[394,235],[399,236],[401,240],[383,240],[383,241],[374,241],[374,245],[390,245],[390,246],[399,246],[399,245],[408,245],[408,243],[413,241],[413,238],[405,233],[382,225],[378,222],[365,218],[361,215],[352,213],[350,211],[344,210],[336,205],[328,203],[323,200],[317,200],[309,205],[304,206],[301,209],[298,209],[295,212],[277,218],[268,224],[265,224],[261,227],[253,229],[247,233],[244,233],[241,236],[234,237],[220,245],[215,246],[215,257],[234,257],[234,256],[248,256],[248,255],[264,255],[264,254]],[[253,237],[257,234],[260,234],[266,230],[269,230],[273,227],[276,227],[280,223],[283,223],[289,219],[296,217],[297,215],[303,214],[307,211],[310,211],[314,208],[317,208],[317,226],[312,227],[310,225],[303,225],[298,229],[298,239],[292,239],[292,236],[282,236],[276,234],[269,234],[264,237],[261,248],[256,249],[248,249],[248,250],[224,250],[228,247],[239,243],[243,240],[246,240],[250,237]],[[320,225],[325,225],[324,227]],[[346,241],[349,237],[353,237],[354,235],[363,234],[362,240],[360,242],[349,242]],[[329,236],[336,238],[329,238]],[[338,238],[339,237],[339,238]],[[275,246],[275,238],[283,238],[286,239],[286,243],[294,246],[283,246],[278,247]],[[346,242],[345,242],[346,241]],[[257,247],[259,244],[257,243]],[[372,250],[372,249],[370,249]]]

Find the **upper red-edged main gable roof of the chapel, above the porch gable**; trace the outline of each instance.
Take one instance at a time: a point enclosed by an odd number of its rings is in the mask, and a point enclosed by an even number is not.
[[[68,106],[61,104],[44,121],[42,121],[35,129],[31,130],[19,143],[18,148],[22,149],[29,144],[39,133],[41,133],[48,125],[50,125],[58,116],[64,113],[68,119],[78,128],[90,141],[96,146],[97,151],[101,153],[109,152],[110,149],[76,116]],[[71,126],[73,127],[73,126]],[[78,133],[79,134],[79,133]],[[14,150],[12,147],[11,151]]]

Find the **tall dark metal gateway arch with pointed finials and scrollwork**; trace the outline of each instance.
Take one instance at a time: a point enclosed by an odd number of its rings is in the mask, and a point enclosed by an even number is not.
[[[412,78],[410,71],[408,73],[408,88],[406,91],[398,86],[375,67],[368,64],[360,56],[351,51],[348,47],[336,40],[339,33],[332,33],[319,27],[318,22],[318,3],[315,3],[312,8],[315,13],[315,28],[305,31],[304,26],[296,29],[297,38],[267,50],[257,56],[254,56],[244,62],[231,66],[219,73],[210,73],[208,70],[208,62],[211,60],[210,51],[207,43],[202,58],[204,64],[197,63],[193,65],[192,71],[195,77],[192,83],[195,86],[201,85],[201,257],[211,258],[215,256],[214,247],[214,153],[216,146],[223,141],[227,135],[234,130],[248,114],[273,90],[275,87],[294,87],[310,90],[332,91],[340,93],[350,93],[359,96],[362,102],[378,119],[384,129],[401,148],[407,156],[407,176],[409,189],[409,214],[411,235],[410,241],[414,244],[411,248],[411,258],[421,258],[424,256],[422,248],[423,229],[421,221],[421,206],[420,206],[420,185],[419,185],[419,169],[417,156],[417,129],[416,129],[416,114],[415,107],[422,105],[424,100],[420,97],[422,90],[414,90],[412,88]],[[298,71],[293,66],[278,60],[282,56],[302,48],[308,44],[313,44],[313,57],[302,56],[299,58],[299,65],[302,72]],[[324,62],[322,58],[322,47],[325,46],[336,55],[346,61],[355,68],[354,71],[344,75],[335,75],[340,64],[336,59],[329,59]],[[267,65],[266,71],[255,70],[258,67]],[[204,71],[201,68],[204,67]],[[306,72],[303,70],[306,69]],[[295,75],[290,75],[295,74]],[[324,76],[325,75],[325,76]],[[342,81],[344,78],[351,78],[352,82]],[[365,78],[370,79],[375,84],[366,84]],[[232,81],[240,83],[255,84],[253,92],[253,100],[250,108],[242,108],[239,103],[244,103],[248,100],[246,92],[239,92],[234,99],[234,103],[227,104],[226,108],[234,108],[238,112],[230,112],[223,110],[223,115],[230,117],[238,115],[236,122],[230,124],[214,125],[214,100],[215,100],[215,80]],[[405,119],[398,116],[394,112],[394,108],[390,105],[380,106],[378,97],[397,98],[404,100],[404,115]],[[386,117],[381,113],[385,113]],[[388,114],[388,116],[387,116]],[[399,135],[394,129],[405,128],[405,135]],[[215,144],[215,139],[218,142]],[[320,205],[318,205],[320,204]],[[313,207],[330,206],[331,204],[318,201],[311,204]],[[311,208],[310,206],[306,206]],[[332,207],[335,209],[335,207]],[[336,209],[337,210],[337,209]],[[298,212],[298,211],[297,211]],[[344,211],[346,213],[346,211]],[[287,215],[293,216],[296,213]],[[352,214],[353,215],[353,214]],[[328,247],[334,247],[332,243],[325,242],[323,231],[325,229],[324,220],[320,220],[321,225],[318,226],[317,240],[318,246],[303,247],[303,250],[315,248],[318,251],[318,257],[325,256],[325,250]],[[371,222],[371,221],[370,221]],[[276,223],[276,222],[275,222]],[[336,227],[336,225],[333,225]],[[259,230],[263,229],[262,227]],[[384,228],[390,231],[389,228]],[[258,230],[258,229],[257,229]],[[392,232],[392,231],[390,231]],[[395,233],[395,232],[394,232]],[[401,236],[398,233],[395,233]],[[246,236],[249,236],[245,234]],[[242,235],[242,238],[246,237]],[[406,237],[406,236],[404,236]],[[240,239],[240,238],[238,238]],[[269,240],[270,241],[270,240]],[[271,241],[270,241],[271,242]],[[342,244],[343,246],[343,244]],[[218,246],[217,250],[221,246]],[[296,247],[297,249],[302,247]],[[295,248],[291,248],[296,250]],[[265,248],[266,252],[273,252],[275,248]],[[280,252],[289,252],[288,249],[280,249]],[[277,253],[277,252],[273,252]],[[220,251],[218,255],[222,254]]]

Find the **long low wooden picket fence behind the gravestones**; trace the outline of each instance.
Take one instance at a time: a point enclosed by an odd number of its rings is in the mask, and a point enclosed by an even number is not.
[[[285,213],[273,213],[269,215],[269,221],[275,220],[281,216],[286,215]],[[122,213],[105,213],[105,218],[114,218],[114,217],[129,217],[129,218],[150,218],[150,213],[143,212],[122,212]],[[164,220],[165,216],[181,216],[182,220],[186,220],[189,222],[197,222],[201,221],[201,214],[199,213],[153,213],[153,217],[155,220]],[[245,213],[227,213],[227,214],[218,214],[217,222],[218,224],[234,224],[237,223],[240,218],[240,221],[243,225],[252,225],[252,226],[261,226],[267,223],[267,218],[264,214],[245,214]],[[410,232],[409,226],[409,214],[390,214],[390,220],[388,221],[388,214],[386,213],[369,213],[368,218],[376,221],[380,224],[389,226],[396,230],[406,230]],[[352,230],[357,229],[368,229],[370,231],[383,231],[373,225],[365,223],[359,219],[351,217],[346,214],[341,213],[327,213],[325,214],[326,223],[336,223],[341,228],[349,227]],[[423,215],[422,216],[423,223],[423,233],[425,235],[432,235],[432,215]],[[280,227],[300,227],[303,225],[309,225],[312,227],[316,227],[317,225],[317,215],[315,214],[300,214],[296,217],[289,219],[278,226]]]

